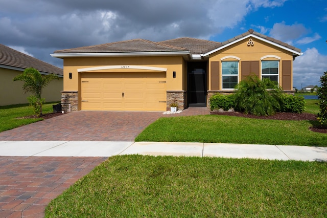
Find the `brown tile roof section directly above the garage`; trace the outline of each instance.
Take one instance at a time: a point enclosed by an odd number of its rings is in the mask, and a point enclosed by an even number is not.
[[[166,45],[145,39],[116,41],[96,46],[75,49],[58,50],[54,53],[132,53],[132,52],[179,52],[188,51],[186,48]]]

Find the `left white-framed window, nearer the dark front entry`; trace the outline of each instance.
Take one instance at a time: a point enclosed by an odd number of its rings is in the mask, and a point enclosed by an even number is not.
[[[223,89],[234,89],[239,81],[239,61],[222,61]]]

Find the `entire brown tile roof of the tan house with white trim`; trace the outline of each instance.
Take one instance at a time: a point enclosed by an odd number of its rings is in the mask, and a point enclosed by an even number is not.
[[[216,49],[219,50],[229,43],[233,43],[238,39],[246,37],[247,35],[253,34],[264,40],[275,43],[275,45],[280,45],[284,48],[300,53],[301,50],[293,46],[288,45],[282,41],[276,40],[274,38],[268,37],[266,35],[254,32],[252,29],[247,32],[228,39],[224,42],[209,41],[197,38],[182,37],[176,39],[170,39],[166,41],[149,41],[145,39],[132,39],[125,41],[117,41],[111,43],[105,43],[96,46],[87,46],[74,49],[64,49],[55,51],[55,54],[74,54],[74,53],[151,53],[151,52],[189,52],[190,54],[205,54]],[[298,54],[297,54],[298,55]],[[57,57],[60,57],[57,56]]]

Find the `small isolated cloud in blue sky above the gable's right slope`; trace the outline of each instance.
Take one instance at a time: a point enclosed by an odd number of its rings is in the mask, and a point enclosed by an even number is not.
[[[270,30],[270,36],[285,42],[290,42],[308,33],[309,30],[303,24],[286,25],[285,21],[276,23]]]

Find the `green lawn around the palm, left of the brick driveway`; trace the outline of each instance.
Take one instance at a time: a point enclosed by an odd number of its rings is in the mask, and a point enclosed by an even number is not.
[[[49,102],[43,104],[43,114],[53,112],[52,105],[57,103]],[[29,106],[29,104],[0,106],[0,132],[43,120],[42,118],[21,119],[33,114],[33,107]]]

